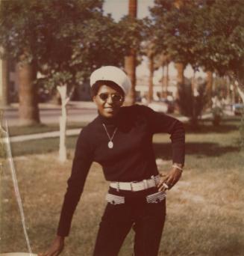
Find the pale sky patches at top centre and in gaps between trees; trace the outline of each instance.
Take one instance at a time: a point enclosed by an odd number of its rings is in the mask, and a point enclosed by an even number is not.
[[[154,0],[137,0],[137,17],[144,18],[150,15],[148,7],[153,7]],[[128,13],[128,0],[105,0],[104,1],[104,13],[110,13],[116,21],[125,16]],[[145,58],[140,66],[137,67],[137,76],[148,76],[148,61]],[[171,63],[169,65],[169,76],[176,76],[177,72],[175,70],[174,64]],[[193,76],[193,69],[187,66],[184,75],[188,78]],[[154,79],[160,79],[162,76],[162,70],[157,70],[154,73]],[[195,74],[196,77],[198,76],[205,76],[203,72],[198,72]]]

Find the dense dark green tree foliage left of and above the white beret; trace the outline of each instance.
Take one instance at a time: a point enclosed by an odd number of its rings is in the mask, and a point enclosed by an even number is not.
[[[50,85],[65,77],[72,85],[82,82],[104,64],[122,67],[131,46],[139,46],[140,22],[125,17],[116,23],[104,16],[102,4],[102,0],[3,1],[0,45],[15,61],[25,54],[24,61],[32,61]]]

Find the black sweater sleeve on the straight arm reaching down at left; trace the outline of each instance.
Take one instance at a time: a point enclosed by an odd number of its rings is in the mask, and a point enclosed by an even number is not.
[[[81,130],[76,143],[75,157],[72,162],[72,172],[67,181],[68,186],[64,196],[60,221],[57,228],[57,235],[62,237],[69,235],[72,216],[78,201],[81,198],[84,183],[93,162],[93,150],[91,150],[90,144],[87,141],[87,135],[85,135],[84,129]]]

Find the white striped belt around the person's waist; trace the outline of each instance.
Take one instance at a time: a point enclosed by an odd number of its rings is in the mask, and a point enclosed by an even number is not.
[[[151,176],[151,179],[133,182],[111,182],[110,187],[117,190],[141,191],[157,186],[160,175]]]

